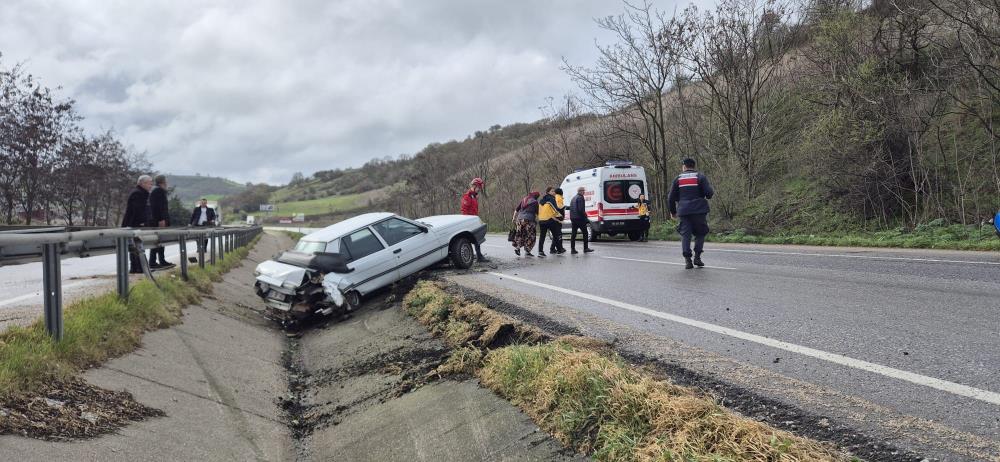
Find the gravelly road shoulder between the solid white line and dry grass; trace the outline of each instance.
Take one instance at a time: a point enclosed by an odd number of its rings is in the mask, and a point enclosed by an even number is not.
[[[1000,456],[996,441],[518,293],[490,283],[483,275],[449,275],[445,279],[466,298],[554,335],[605,340],[632,362],[678,384],[709,391],[737,412],[832,442],[866,460],[991,460]]]

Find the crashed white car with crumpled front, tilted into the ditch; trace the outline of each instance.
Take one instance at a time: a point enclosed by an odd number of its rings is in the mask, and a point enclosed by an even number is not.
[[[435,263],[466,269],[486,239],[477,216],[410,220],[367,213],[306,235],[295,249],[257,265],[257,295],[288,325],[356,308],[365,295]]]

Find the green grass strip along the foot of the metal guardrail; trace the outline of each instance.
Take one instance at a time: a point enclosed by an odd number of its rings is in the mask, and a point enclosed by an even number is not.
[[[55,342],[45,331],[44,320],[27,327],[14,326],[0,333],[0,399],[64,381],[79,371],[133,351],[146,331],[180,322],[181,309],[197,303],[212,283],[240,264],[257,242],[226,254],[204,269],[188,268],[189,280],[178,271],[131,286],[127,301],[108,293],[73,303],[63,310],[63,340]]]

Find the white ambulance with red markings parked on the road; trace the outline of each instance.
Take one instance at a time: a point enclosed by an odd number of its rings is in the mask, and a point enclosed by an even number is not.
[[[642,231],[649,228],[649,222],[639,219],[636,204],[639,196],[649,192],[646,189],[646,171],[627,161],[610,161],[603,167],[577,170],[563,180],[560,186],[568,207],[576,196],[577,188],[585,188],[587,218],[590,220],[591,239],[602,235],[614,237],[619,234],[637,241]],[[572,225],[569,213],[563,220],[563,233],[569,234]]]

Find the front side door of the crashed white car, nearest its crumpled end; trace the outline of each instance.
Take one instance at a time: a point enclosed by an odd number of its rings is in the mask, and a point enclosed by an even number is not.
[[[345,275],[350,281],[345,292],[357,290],[367,294],[397,278],[396,255],[386,248],[371,227],[340,238],[340,253],[347,257],[347,267],[354,270]]]

